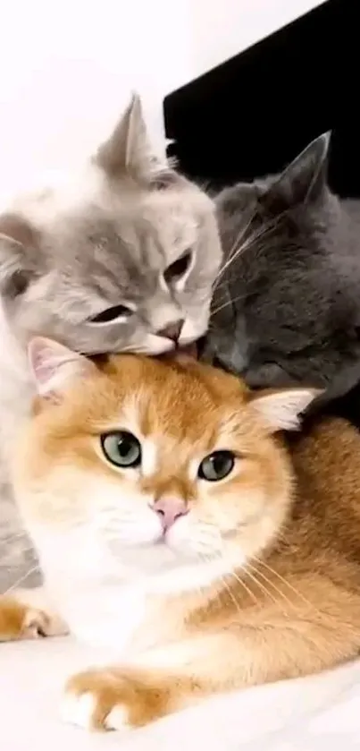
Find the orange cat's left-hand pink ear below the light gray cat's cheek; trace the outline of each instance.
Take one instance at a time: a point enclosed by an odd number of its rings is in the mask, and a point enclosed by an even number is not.
[[[38,395],[53,402],[61,401],[63,392],[73,380],[96,372],[96,365],[82,354],[46,337],[35,337],[30,341],[28,357]]]

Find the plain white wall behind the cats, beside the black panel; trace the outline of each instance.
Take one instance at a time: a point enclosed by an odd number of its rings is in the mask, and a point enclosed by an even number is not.
[[[319,0],[9,0],[0,42],[0,191],[84,158],[130,90],[162,132],[164,94]]]

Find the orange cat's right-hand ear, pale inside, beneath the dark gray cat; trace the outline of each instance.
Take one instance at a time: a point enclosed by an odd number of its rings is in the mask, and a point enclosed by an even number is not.
[[[251,397],[251,405],[272,432],[296,431],[300,426],[300,415],[321,394],[318,388],[268,389],[255,393]]]

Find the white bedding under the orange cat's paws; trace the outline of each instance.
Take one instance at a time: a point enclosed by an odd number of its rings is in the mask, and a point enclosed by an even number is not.
[[[314,678],[224,696],[126,736],[60,721],[63,681],[106,661],[70,638],[0,644],[4,751],[352,751],[360,745],[360,661]]]

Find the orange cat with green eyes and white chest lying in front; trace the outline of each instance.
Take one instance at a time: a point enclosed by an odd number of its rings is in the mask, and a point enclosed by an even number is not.
[[[133,728],[202,697],[331,668],[360,644],[360,437],[312,389],[251,393],[194,362],[102,368],[36,339],[17,497],[71,631],[112,644],[68,721]]]

